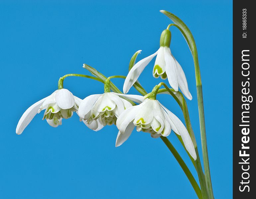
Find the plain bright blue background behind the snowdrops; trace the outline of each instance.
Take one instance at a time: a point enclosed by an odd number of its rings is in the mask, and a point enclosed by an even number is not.
[[[170,151],[149,134],[134,131],[115,148],[115,126],[94,132],[74,114],[52,128],[43,113],[15,134],[23,112],[55,91],[59,77],[89,74],[83,63],[106,76],[127,75],[135,51],[142,50],[137,60],[155,52],[171,23],[161,9],[180,17],[195,37],[214,196],[232,198],[232,2],[223,0],[1,0],[1,198],[196,198]],[[181,33],[171,31],[171,50],[194,97],[187,103],[201,154],[193,59]],[[148,92],[161,81],[152,77],[153,64],[139,77]],[[113,82],[122,89],[122,79]],[[82,99],[103,92],[102,83],[78,77],[65,79],[64,87]],[[170,96],[158,100],[182,118]],[[169,140],[196,175],[174,133]]]

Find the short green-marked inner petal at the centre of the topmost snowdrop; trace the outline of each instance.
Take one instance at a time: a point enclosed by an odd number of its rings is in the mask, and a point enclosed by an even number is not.
[[[157,78],[158,76],[155,76],[155,74],[162,75],[164,72],[165,72],[164,47],[161,46],[156,56],[155,65],[153,68],[153,76]]]

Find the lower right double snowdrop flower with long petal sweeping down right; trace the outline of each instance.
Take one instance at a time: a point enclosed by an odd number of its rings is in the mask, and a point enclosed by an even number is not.
[[[180,135],[189,154],[197,159],[188,130],[180,119],[164,107],[158,100],[146,99],[141,104],[131,106],[117,118],[119,133],[116,147],[122,145],[136,126],[137,131],[147,132],[151,137],[168,136],[171,129]]]

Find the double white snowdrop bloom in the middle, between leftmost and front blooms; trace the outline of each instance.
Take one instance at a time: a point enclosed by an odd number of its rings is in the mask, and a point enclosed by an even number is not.
[[[83,99],[78,108],[81,120],[92,130],[98,131],[106,125],[116,124],[118,116],[132,104],[123,99],[141,103],[143,96],[125,95],[113,92],[90,95]]]

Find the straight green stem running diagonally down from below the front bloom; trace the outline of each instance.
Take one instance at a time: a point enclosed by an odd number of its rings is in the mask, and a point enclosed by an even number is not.
[[[198,186],[194,176],[190,172],[190,170],[189,170],[188,166],[186,165],[186,163],[182,160],[181,156],[179,155],[177,150],[174,148],[174,146],[171,144],[171,142],[167,139],[167,137],[161,136],[160,138],[163,140],[163,142],[168,147],[168,149],[172,152],[173,156],[175,157],[175,159],[177,160],[177,162],[181,166],[182,170],[184,171],[184,173],[188,177],[188,179],[189,179],[191,185],[193,186],[193,188],[194,188],[198,198],[202,199],[203,197],[202,197],[201,189]]]

